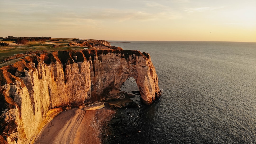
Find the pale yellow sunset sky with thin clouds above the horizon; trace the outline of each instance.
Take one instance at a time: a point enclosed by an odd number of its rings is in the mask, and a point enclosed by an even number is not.
[[[0,37],[256,42],[255,0],[0,0]]]

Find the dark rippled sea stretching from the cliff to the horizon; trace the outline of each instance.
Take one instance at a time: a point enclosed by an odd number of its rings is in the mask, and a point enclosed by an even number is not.
[[[129,42],[111,45],[149,53],[162,96],[119,109],[109,143],[256,143],[256,43]]]

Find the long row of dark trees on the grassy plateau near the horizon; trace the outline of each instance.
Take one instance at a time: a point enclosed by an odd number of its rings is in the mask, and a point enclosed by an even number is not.
[[[14,43],[18,45],[26,45],[29,41],[45,41],[45,40],[51,40],[51,37],[14,37],[14,36],[8,36],[3,38],[3,41],[14,41]]]

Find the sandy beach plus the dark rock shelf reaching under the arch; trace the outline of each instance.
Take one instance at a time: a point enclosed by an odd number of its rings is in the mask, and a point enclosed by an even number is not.
[[[127,96],[128,94],[123,93],[118,99],[60,112],[46,122],[34,143],[108,143],[109,136],[113,134],[109,124],[115,117],[116,110],[137,107]]]

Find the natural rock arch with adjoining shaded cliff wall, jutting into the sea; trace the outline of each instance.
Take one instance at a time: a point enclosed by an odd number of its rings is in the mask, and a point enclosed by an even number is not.
[[[148,54],[135,50],[102,50],[94,55],[90,53],[89,57],[88,51],[84,52],[93,66],[90,66],[93,101],[117,98],[120,87],[130,77],[136,80],[143,103],[149,105],[160,96],[155,67]]]

